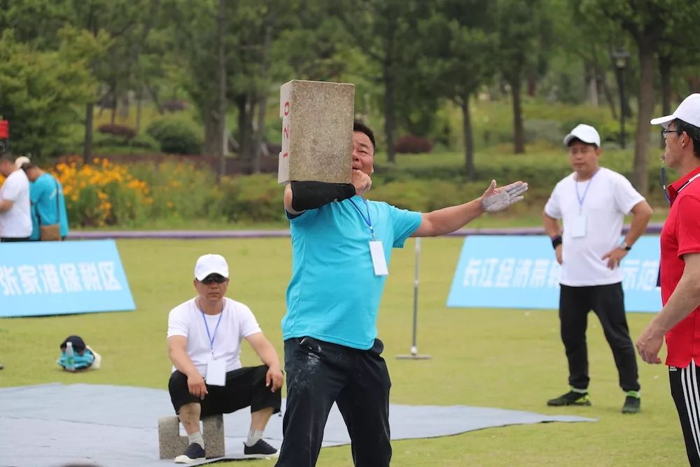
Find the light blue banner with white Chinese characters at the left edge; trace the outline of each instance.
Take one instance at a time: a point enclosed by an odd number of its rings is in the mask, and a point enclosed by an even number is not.
[[[113,240],[0,244],[0,317],[134,308]]]

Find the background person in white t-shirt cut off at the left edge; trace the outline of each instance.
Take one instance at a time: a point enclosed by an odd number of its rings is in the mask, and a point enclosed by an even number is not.
[[[8,153],[0,153],[0,174],[6,177],[0,187],[0,242],[29,242],[29,179]]]

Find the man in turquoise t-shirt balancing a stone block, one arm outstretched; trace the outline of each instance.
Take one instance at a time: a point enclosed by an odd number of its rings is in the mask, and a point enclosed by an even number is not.
[[[527,183],[496,188],[458,206],[421,214],[367,201],[374,134],[353,128],[352,183],[292,181],[284,191],[293,272],[282,319],[287,405],[278,467],[315,466],[335,402],[358,466],[388,466],[391,381],[377,314],[391,249],[408,237],[454,232],[485,211],[523,199]]]

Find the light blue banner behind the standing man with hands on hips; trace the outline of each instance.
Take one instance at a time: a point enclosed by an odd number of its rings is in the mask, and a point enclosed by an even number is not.
[[[640,237],[620,267],[626,310],[659,312],[659,237]],[[552,242],[542,235],[466,237],[447,306],[559,309]]]

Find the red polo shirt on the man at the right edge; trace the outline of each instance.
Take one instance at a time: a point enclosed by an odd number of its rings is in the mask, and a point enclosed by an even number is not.
[[[685,269],[683,255],[700,253],[700,167],[668,186],[671,210],[661,230],[661,302],[666,305]],[[700,307],[666,333],[666,365],[700,364]]]

